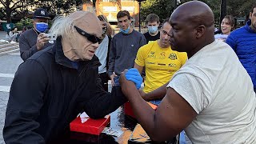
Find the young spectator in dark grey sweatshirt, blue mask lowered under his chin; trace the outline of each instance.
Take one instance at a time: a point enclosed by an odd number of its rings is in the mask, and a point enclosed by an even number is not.
[[[130,26],[130,13],[126,10],[117,14],[120,33],[115,34],[111,41],[108,75],[112,86],[118,85],[119,75],[123,70],[134,66],[138,49],[146,44],[143,34]]]

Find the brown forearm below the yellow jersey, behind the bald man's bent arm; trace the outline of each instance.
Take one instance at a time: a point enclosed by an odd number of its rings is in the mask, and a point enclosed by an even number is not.
[[[164,84],[163,86],[159,87],[156,90],[151,91],[150,93],[147,93],[143,98],[145,99],[145,101],[149,102],[152,100],[156,100],[156,99],[162,99],[165,97],[166,95],[166,86],[168,85],[169,82],[167,82],[166,84]]]

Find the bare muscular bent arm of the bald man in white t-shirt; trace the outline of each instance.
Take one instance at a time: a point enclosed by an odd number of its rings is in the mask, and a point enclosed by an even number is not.
[[[188,102],[174,89],[168,88],[165,98],[154,111],[139,95],[133,82],[121,77],[122,91],[130,101],[134,115],[154,141],[175,137],[197,116]]]

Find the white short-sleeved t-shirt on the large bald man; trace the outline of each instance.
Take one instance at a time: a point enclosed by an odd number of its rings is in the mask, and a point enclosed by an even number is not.
[[[167,87],[198,113],[185,130],[193,143],[256,143],[253,83],[225,42],[199,50]]]

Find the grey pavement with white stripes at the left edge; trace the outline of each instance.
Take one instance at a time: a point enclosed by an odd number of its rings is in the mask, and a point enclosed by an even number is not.
[[[5,38],[6,32],[0,31],[0,40]],[[0,144],[5,143],[2,138],[2,129],[6,118],[10,85],[19,64],[23,62],[18,50],[18,43],[0,42]]]

